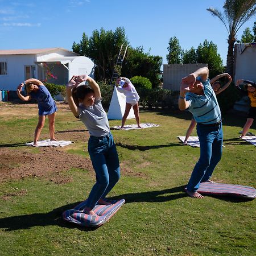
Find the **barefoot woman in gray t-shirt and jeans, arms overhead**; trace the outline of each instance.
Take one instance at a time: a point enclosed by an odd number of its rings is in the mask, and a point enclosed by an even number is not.
[[[84,81],[88,81],[90,87],[79,85]],[[110,133],[106,112],[101,105],[101,91],[97,82],[87,75],[73,76],[67,84],[66,96],[72,113],[89,130],[88,152],[96,172],[96,183],[84,212],[96,215],[93,208],[97,203],[110,204],[104,198],[120,177],[117,149]]]

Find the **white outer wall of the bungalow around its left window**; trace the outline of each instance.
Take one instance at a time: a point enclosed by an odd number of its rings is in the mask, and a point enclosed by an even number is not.
[[[24,65],[35,65],[35,55],[2,55],[0,62],[6,62],[7,75],[0,75],[0,90],[16,90],[25,80]],[[36,74],[37,74],[37,65]]]

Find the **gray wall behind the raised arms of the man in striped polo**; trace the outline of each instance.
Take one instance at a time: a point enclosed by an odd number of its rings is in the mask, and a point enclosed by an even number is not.
[[[179,91],[181,79],[203,67],[207,67],[207,64],[164,64],[163,88]]]

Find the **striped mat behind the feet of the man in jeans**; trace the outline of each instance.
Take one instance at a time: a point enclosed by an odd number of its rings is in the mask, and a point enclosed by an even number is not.
[[[202,195],[232,196],[245,199],[254,199],[256,196],[256,189],[253,187],[212,182],[202,182],[197,192]]]

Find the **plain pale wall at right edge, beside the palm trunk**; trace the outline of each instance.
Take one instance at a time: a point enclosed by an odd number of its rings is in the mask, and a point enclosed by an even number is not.
[[[235,44],[234,81],[256,81],[256,44]]]

